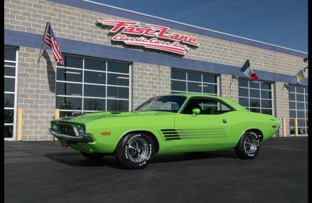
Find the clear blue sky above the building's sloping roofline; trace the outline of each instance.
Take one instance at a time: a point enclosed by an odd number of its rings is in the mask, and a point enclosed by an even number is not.
[[[92,0],[308,52],[308,0]]]

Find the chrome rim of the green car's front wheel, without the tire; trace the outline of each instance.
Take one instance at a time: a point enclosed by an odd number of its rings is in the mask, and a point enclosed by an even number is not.
[[[127,154],[132,162],[142,162],[149,155],[149,144],[143,138],[135,137],[129,142]]]

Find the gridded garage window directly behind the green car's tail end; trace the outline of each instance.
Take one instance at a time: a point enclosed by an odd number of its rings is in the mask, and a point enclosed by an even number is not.
[[[271,83],[246,79],[238,80],[239,103],[255,113],[273,115]]]

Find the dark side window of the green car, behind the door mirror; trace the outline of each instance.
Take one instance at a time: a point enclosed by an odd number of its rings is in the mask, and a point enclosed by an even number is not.
[[[193,109],[198,108],[200,115],[217,115],[231,111],[227,105],[219,100],[210,98],[191,99],[183,110],[183,114],[193,114]]]

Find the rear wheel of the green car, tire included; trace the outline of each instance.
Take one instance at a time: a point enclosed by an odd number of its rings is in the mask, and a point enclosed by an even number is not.
[[[260,141],[257,132],[244,132],[244,135],[242,135],[234,150],[236,155],[242,159],[254,159],[260,150]]]

